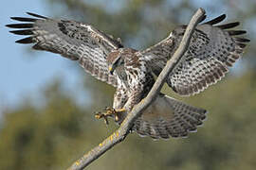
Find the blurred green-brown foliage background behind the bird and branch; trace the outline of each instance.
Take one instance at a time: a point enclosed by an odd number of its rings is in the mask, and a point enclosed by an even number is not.
[[[91,23],[136,49],[159,42],[174,26],[187,24],[199,7],[206,9],[208,19],[227,13],[226,21],[240,21],[240,28],[248,31],[251,42],[243,59],[224,80],[204,93],[186,98],[166,86],[163,88],[175,98],[209,110],[203,127],[189,138],[168,141],[130,134],[88,169],[256,169],[255,0],[46,0],[44,3],[51,16]],[[78,65],[72,67],[83,72]],[[93,116],[93,111],[112,105],[114,88],[87,74],[80,75],[83,83],[76,84],[71,93],[64,88],[66,79],[54,76],[39,90],[38,101],[33,101],[27,93],[18,105],[2,110],[0,169],[64,169],[117,128],[113,121],[106,127]],[[90,93],[86,98],[89,102],[79,104],[72,92]]]

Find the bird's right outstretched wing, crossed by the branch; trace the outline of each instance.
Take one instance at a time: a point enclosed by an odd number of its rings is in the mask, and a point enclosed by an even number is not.
[[[174,92],[191,95],[204,91],[225,76],[229,67],[241,57],[245,42],[249,40],[235,36],[246,31],[228,30],[238,26],[238,22],[215,26],[225,18],[226,15],[221,15],[196,27],[189,49],[167,78]],[[141,51],[156,76],[173,56],[185,29],[186,26],[177,27],[167,39]]]

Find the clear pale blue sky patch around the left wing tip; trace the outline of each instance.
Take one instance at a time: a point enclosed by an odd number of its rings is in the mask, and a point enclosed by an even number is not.
[[[0,114],[6,106],[17,105],[27,93],[37,96],[38,90],[44,89],[44,85],[53,77],[64,78],[68,88],[78,82],[78,75],[81,74],[69,59],[42,51],[31,53],[31,45],[15,43],[22,36],[10,34],[5,25],[14,23],[10,16],[27,16],[26,11],[52,15],[43,0],[1,2]]]

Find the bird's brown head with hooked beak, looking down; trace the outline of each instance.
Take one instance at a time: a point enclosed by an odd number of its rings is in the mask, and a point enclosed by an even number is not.
[[[112,51],[107,56],[108,71],[113,75],[114,71],[124,64],[124,55],[122,49]]]

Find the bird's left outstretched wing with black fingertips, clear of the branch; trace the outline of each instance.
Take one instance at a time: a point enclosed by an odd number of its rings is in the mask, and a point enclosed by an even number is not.
[[[35,18],[11,17],[26,22],[7,25],[19,30],[9,32],[29,37],[18,43],[35,43],[33,49],[58,53],[65,58],[79,60],[84,70],[92,76],[117,86],[117,79],[108,73],[106,57],[109,52],[122,47],[119,41],[91,25],[75,21],[53,20],[34,13]]]

